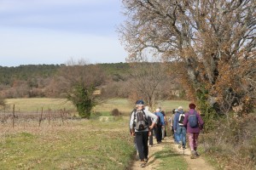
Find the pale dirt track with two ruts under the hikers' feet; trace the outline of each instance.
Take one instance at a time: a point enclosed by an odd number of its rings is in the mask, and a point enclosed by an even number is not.
[[[177,144],[174,144],[173,140],[170,137],[165,138],[162,143],[171,144],[172,148],[179,154],[183,156],[183,150],[177,148]],[[147,167],[140,167],[140,161],[134,161],[131,170],[137,170],[137,169],[147,169],[147,170],[153,170],[156,169],[160,165],[160,160],[155,159],[154,153],[157,151],[160,151],[163,149],[164,144],[156,144],[156,141],[154,140],[154,145],[152,147],[148,147],[149,155],[148,155],[148,164]],[[190,159],[190,150],[186,149],[184,150],[184,158],[188,163],[188,170],[213,170],[213,167],[207,164],[205,160],[202,159],[202,157],[196,158],[196,159]]]

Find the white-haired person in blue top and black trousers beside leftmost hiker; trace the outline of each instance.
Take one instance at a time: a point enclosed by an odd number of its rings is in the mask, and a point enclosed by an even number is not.
[[[158,117],[155,127],[155,136],[157,144],[160,144],[162,142],[162,128],[165,127],[166,123],[163,114],[160,112],[160,108],[157,108],[154,114]]]

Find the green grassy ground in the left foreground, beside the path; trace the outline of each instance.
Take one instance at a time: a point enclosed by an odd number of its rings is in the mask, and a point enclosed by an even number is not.
[[[1,169],[125,169],[134,156],[124,121],[0,126]]]

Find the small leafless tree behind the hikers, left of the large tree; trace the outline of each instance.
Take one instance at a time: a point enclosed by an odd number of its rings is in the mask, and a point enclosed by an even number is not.
[[[132,62],[130,65],[131,98],[144,99],[152,108],[166,89],[160,88],[161,84],[170,79],[166,74],[166,65],[160,62]]]

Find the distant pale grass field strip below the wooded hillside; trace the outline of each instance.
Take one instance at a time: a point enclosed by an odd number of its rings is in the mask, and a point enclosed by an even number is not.
[[[12,111],[13,105],[15,105],[15,111],[20,112],[38,112],[42,108],[44,111],[57,111],[64,109],[70,112],[76,112],[74,105],[67,101],[67,99],[50,99],[50,98],[29,98],[29,99],[7,99],[7,105],[9,111]],[[165,100],[158,101],[164,111],[171,112],[172,109],[177,108],[179,105],[183,106],[184,110],[187,110],[189,101],[184,100]],[[113,109],[118,109],[124,116],[130,115],[134,108],[134,102],[128,99],[108,99],[100,105],[96,105],[93,112],[99,112],[101,116],[110,116]],[[154,108],[152,108],[154,109]]]

